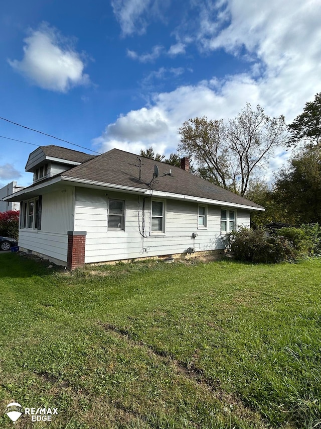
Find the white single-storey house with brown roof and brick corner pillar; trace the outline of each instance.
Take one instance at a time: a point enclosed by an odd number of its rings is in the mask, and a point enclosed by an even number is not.
[[[26,170],[33,185],[20,201],[19,246],[74,269],[84,263],[224,248],[222,238],[250,225],[263,207],[182,167],[112,149],[94,156],[40,146]]]

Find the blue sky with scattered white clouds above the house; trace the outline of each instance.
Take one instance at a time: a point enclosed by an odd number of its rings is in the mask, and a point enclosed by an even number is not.
[[[320,19],[318,0],[4,2],[0,116],[98,152],[167,155],[185,120],[247,102],[290,123],[321,90]],[[77,149],[4,120],[0,135]],[[36,146],[0,145],[0,187],[31,184]]]

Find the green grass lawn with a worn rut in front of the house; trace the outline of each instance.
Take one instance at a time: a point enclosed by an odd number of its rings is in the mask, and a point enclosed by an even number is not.
[[[92,270],[0,254],[0,427],[321,427],[321,260]]]

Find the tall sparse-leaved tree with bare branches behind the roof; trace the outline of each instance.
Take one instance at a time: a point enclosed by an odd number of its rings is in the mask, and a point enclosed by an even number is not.
[[[179,152],[191,158],[198,174],[244,196],[249,180],[283,143],[284,117],[269,118],[249,103],[227,123],[206,117],[190,119],[179,129]]]

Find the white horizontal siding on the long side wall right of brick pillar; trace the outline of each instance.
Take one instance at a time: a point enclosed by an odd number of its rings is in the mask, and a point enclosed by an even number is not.
[[[108,198],[125,201],[124,230],[107,230]],[[150,234],[150,198],[146,198],[145,238],[138,228],[138,199],[141,227],[143,197],[76,188],[75,230],[87,232],[85,263],[183,253],[189,247],[196,251],[224,248],[219,206],[208,206],[207,228],[198,228],[197,203],[167,199],[166,232]],[[243,217],[245,221],[245,212]],[[198,234],[195,242],[193,232]]]

